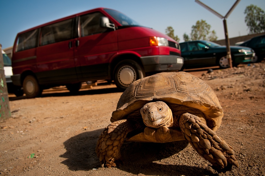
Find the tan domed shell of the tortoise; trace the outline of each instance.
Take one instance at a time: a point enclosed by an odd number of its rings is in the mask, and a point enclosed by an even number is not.
[[[164,101],[199,109],[207,126],[216,131],[223,118],[223,109],[211,87],[186,72],[162,72],[133,82],[121,95],[111,122],[126,118],[146,103]]]

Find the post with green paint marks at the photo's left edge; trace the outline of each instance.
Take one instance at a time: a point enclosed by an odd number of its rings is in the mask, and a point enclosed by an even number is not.
[[[7,83],[5,80],[4,60],[2,45],[0,44],[0,122],[11,117],[9,98],[7,93]]]

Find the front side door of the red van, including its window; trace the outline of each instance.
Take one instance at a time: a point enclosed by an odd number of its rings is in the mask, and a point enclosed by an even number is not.
[[[79,17],[79,46],[76,47],[83,80],[107,79],[110,58],[118,50],[117,31],[102,28],[101,12]]]

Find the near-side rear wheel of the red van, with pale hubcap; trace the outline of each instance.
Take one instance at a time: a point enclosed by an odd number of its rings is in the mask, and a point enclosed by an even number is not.
[[[23,81],[23,90],[27,98],[40,97],[42,93],[42,89],[40,89],[38,81],[32,75],[28,75],[25,77]]]

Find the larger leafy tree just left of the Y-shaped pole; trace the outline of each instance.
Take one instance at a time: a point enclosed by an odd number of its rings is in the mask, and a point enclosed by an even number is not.
[[[195,25],[191,27],[191,40],[210,40],[215,41],[217,39],[215,30],[210,31],[211,25],[205,20],[197,21]]]

